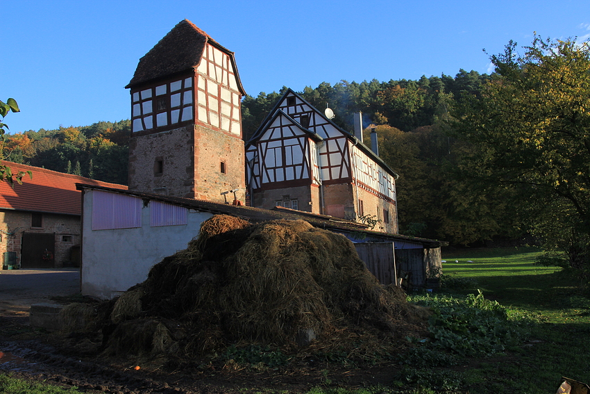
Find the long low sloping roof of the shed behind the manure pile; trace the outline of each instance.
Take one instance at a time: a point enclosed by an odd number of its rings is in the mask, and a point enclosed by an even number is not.
[[[242,219],[251,222],[263,222],[267,220],[305,220],[314,227],[321,229],[328,229],[330,231],[350,233],[350,234],[364,234],[371,239],[376,240],[398,240],[405,242],[421,243],[425,247],[439,247],[441,241],[429,240],[426,238],[415,238],[408,236],[401,236],[399,234],[382,233],[380,231],[372,231],[366,224],[351,222],[350,220],[340,219],[328,215],[319,215],[317,213],[310,213],[305,211],[296,211],[294,209],[283,208],[276,206],[271,210],[263,208],[254,208],[253,206],[235,206],[230,204],[219,204],[217,202],[208,202],[199,199],[187,199],[183,197],[170,197],[165,195],[156,195],[152,193],[137,192],[135,190],[121,190],[115,188],[108,188],[103,186],[87,185],[78,183],[76,185],[78,190],[92,189],[103,190],[106,192],[116,192],[124,195],[132,195],[145,200],[153,200],[159,202],[166,202],[177,206],[184,206],[196,211],[210,212],[213,214],[233,215],[242,217]],[[369,238],[367,238],[369,239]]]

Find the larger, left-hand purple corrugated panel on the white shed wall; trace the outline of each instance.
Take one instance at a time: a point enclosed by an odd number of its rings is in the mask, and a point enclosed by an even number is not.
[[[92,229],[133,229],[142,227],[142,199],[94,190]]]

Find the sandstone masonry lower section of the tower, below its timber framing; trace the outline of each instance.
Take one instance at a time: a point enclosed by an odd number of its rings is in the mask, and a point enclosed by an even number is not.
[[[244,204],[244,141],[236,136],[191,125],[129,140],[129,190],[223,203],[221,192],[233,189]]]

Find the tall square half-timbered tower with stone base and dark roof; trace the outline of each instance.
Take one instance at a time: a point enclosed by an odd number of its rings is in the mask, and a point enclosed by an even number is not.
[[[245,200],[241,99],[233,52],[187,19],[140,59],[131,95],[130,190]]]

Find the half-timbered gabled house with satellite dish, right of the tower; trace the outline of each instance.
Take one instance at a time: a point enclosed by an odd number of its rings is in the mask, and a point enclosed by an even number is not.
[[[361,140],[287,90],[246,142],[250,204],[378,220],[397,233],[397,174]]]

